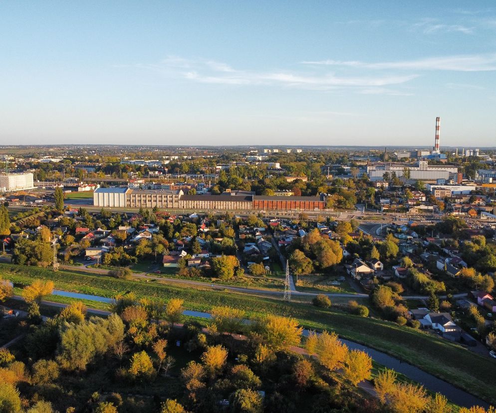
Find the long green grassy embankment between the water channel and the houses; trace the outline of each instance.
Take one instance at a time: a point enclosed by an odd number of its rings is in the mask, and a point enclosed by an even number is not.
[[[373,318],[361,318],[336,309],[322,310],[308,304],[284,303],[280,299],[256,297],[233,291],[210,291],[146,281],[126,281],[106,276],[0,264],[4,278],[29,284],[33,279],[50,279],[57,289],[112,297],[133,291],[138,297],[178,297],[191,310],[209,311],[214,305],[241,308],[248,317],[278,314],[291,316],[304,327],[335,331],[353,340],[420,367],[475,396],[496,403],[496,361],[463,347],[409,327]],[[58,297],[59,298],[59,297]]]

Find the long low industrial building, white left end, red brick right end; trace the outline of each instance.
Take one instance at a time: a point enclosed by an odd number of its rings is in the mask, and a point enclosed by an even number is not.
[[[184,195],[182,190],[137,190],[98,188],[93,194],[95,207],[228,209],[228,210],[322,210],[324,196],[270,197],[255,195]]]

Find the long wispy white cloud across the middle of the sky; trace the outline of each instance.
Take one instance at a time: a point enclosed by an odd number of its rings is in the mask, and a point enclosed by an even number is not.
[[[337,76],[334,73],[295,71],[251,71],[234,69],[232,66],[213,60],[185,59],[168,56],[156,64],[140,64],[142,68],[158,71],[200,83],[225,85],[280,85],[308,90],[332,90],[335,88],[374,88],[399,85],[415,79],[418,75],[384,76]],[[320,70],[317,70],[319,72]]]

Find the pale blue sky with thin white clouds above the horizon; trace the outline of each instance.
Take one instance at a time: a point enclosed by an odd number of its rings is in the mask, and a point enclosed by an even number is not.
[[[0,145],[496,146],[495,1],[0,0]]]

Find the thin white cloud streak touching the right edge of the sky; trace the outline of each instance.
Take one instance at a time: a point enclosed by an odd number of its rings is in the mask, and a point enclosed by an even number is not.
[[[451,70],[477,72],[496,70],[496,53],[428,57],[418,60],[367,63],[356,60],[303,61],[303,64],[347,66],[366,69]]]

